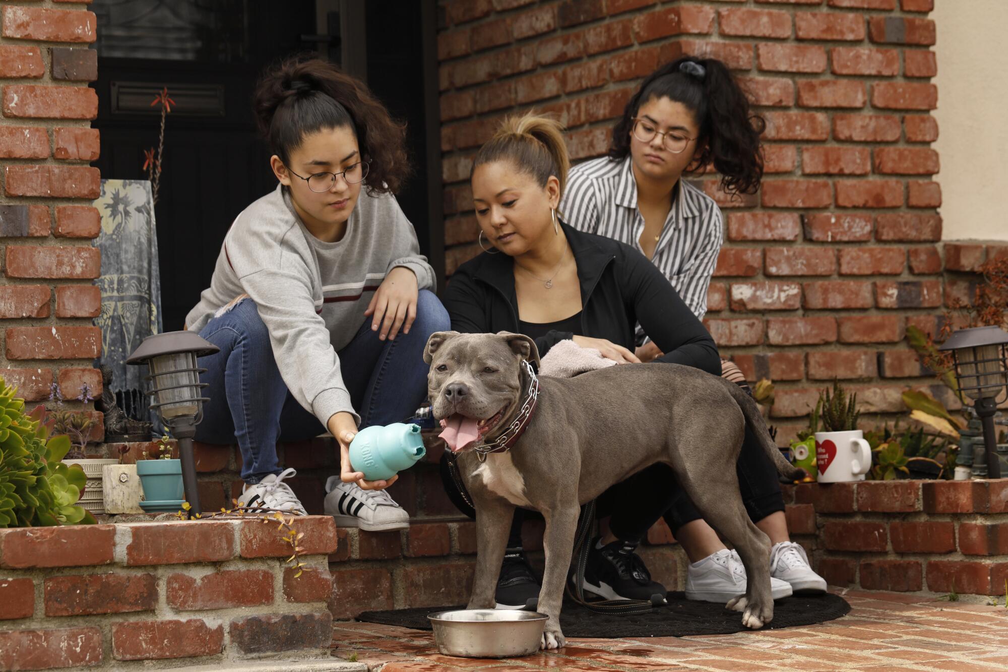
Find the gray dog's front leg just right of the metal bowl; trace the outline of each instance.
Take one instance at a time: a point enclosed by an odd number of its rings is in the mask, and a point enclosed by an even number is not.
[[[560,604],[563,601],[563,585],[571,569],[580,510],[578,502],[572,501],[557,506],[548,514],[543,513],[546,530],[542,537],[542,547],[546,555],[546,567],[542,573],[538,611],[549,619],[540,641],[542,649],[558,649],[566,644],[563,633],[560,632]]]

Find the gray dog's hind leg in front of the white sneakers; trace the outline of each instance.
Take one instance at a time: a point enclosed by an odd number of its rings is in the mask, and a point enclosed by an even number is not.
[[[746,568],[746,594],[727,606],[742,611],[742,625],[758,630],[773,620],[770,590],[770,539],[749,520],[739,494],[735,469],[704,473],[704,481],[683,483],[704,520],[738,551]],[[685,480],[685,479],[683,479]],[[711,482],[712,480],[724,482]]]

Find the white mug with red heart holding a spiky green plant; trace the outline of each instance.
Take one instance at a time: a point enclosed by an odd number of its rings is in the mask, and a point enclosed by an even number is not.
[[[864,480],[872,467],[872,452],[858,429],[858,396],[848,394],[839,381],[833,393],[820,393],[824,431],[815,432],[815,465],[818,482],[837,483]]]

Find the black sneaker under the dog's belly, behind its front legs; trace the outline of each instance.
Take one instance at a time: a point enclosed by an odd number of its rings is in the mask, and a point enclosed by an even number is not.
[[[634,553],[636,544],[614,541],[596,548],[599,538],[590,543],[585,567],[585,592],[605,599],[644,599],[653,604],[665,601],[665,586],[651,580],[644,561]]]

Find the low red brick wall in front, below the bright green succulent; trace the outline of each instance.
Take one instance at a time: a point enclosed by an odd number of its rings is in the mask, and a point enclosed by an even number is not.
[[[327,603],[341,607],[328,566],[337,529],[328,516],[296,525],[300,576],[285,531],[259,519],[0,530],[0,669],[324,656]]]

